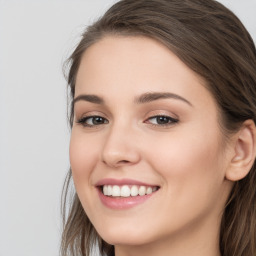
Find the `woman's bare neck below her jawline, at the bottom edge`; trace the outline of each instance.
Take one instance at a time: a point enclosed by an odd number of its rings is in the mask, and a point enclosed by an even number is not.
[[[143,245],[116,245],[116,256],[221,256],[219,223],[202,223]],[[211,227],[211,228],[209,228]]]

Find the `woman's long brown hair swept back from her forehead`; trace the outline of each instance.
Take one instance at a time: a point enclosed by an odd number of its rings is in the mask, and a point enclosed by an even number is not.
[[[70,56],[69,121],[73,123],[76,75],[83,53],[105,36],[145,36],[164,44],[199,74],[215,98],[221,130],[228,135],[245,120],[256,123],[256,49],[240,20],[214,0],[122,0],[87,27]],[[113,256],[114,246],[97,234],[74,195],[69,211],[69,170],[63,187],[61,255],[88,256],[95,248]],[[256,255],[256,165],[234,183],[223,210],[219,248],[222,256]]]

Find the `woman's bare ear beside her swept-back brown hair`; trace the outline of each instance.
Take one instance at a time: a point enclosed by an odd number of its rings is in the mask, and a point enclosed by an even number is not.
[[[256,128],[253,120],[246,120],[234,136],[232,157],[226,179],[238,181],[250,171],[256,154]]]

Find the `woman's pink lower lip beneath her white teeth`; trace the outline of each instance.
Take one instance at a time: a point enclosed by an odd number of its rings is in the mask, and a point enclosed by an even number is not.
[[[149,198],[151,198],[156,192],[145,196],[134,196],[134,197],[112,197],[105,196],[100,189],[98,189],[99,197],[101,202],[111,209],[123,210],[135,207],[143,204]]]

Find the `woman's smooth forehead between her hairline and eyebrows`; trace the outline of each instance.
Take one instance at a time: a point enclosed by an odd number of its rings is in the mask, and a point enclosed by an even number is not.
[[[148,91],[168,91],[188,98],[203,93],[213,100],[205,81],[156,40],[107,36],[83,54],[75,96],[105,93],[110,98],[113,95],[109,92],[128,96]]]

